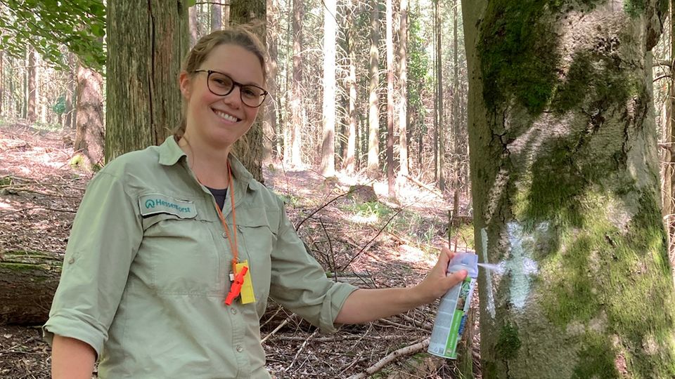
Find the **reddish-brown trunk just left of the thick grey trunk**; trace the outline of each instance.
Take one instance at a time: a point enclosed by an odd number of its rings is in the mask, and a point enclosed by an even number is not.
[[[96,170],[103,166],[103,77],[93,69],[77,67],[77,119],[73,149],[82,154],[82,166]],[[108,110],[110,112],[110,110]]]

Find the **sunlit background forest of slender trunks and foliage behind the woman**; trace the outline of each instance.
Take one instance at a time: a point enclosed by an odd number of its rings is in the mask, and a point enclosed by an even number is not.
[[[106,48],[113,44],[105,34],[106,26],[108,33],[114,28],[107,18],[113,4],[0,1],[2,121],[25,120],[33,128],[69,131],[77,152],[70,163],[93,171],[122,152],[161,140],[173,126],[167,122],[171,115],[160,115],[151,121],[146,139],[136,138],[134,131],[104,133],[104,120],[116,128],[123,123],[110,118],[115,113],[110,109],[122,105],[111,105],[106,98],[110,89],[106,93],[103,88],[113,81],[120,86],[145,79],[143,73],[110,74],[119,64],[106,61]],[[262,149],[252,149],[259,155],[251,159],[257,162],[250,166],[252,172],[259,166],[262,178],[260,162],[265,159],[285,169],[316,168],[327,185],[335,175],[353,175],[364,182],[386,180],[387,201],[392,204],[409,182],[436,187],[454,219],[447,220],[451,225],[456,219],[471,220],[469,75],[459,1],[198,2],[179,14],[176,29],[184,22],[193,44],[241,9],[257,15],[257,20],[264,17],[261,33],[270,55],[271,95],[262,112]],[[122,41],[128,36],[126,43],[134,44],[129,36],[133,32],[113,36]],[[660,149],[663,220],[672,237],[671,46],[671,31],[665,27],[653,48],[650,112]],[[179,64],[175,56],[158,57]],[[672,246],[669,243],[671,262]],[[511,342],[508,323],[503,330],[506,342]],[[503,342],[497,341],[498,350]],[[621,371],[620,362],[614,363]]]

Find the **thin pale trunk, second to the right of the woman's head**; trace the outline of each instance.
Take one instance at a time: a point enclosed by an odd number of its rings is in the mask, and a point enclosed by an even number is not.
[[[304,4],[302,0],[293,0],[293,83],[290,92],[290,163],[302,165],[302,19]]]

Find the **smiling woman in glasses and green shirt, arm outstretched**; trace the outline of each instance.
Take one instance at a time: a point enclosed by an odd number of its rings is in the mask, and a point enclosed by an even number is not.
[[[245,29],[203,37],[179,77],[176,135],[91,180],[44,326],[53,378],[89,378],[97,357],[101,378],[269,378],[268,296],[334,331],[431,302],[465,277],[446,277],[444,249],[412,288],[326,278],[281,201],[229,154],[266,97],[264,67]]]

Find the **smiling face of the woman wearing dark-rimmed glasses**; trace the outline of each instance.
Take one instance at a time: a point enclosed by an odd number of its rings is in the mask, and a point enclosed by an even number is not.
[[[198,69],[221,72],[243,85],[264,87],[259,59],[238,45],[216,46]],[[207,72],[181,73],[181,93],[188,102],[185,134],[188,140],[198,139],[219,149],[229,148],[251,128],[258,108],[241,101],[240,86],[234,86],[225,96],[212,93],[207,77]],[[212,86],[212,89],[216,88]]]

